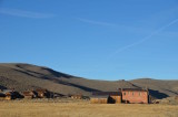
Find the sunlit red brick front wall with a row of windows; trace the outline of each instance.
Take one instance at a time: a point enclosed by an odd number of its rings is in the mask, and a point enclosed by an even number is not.
[[[148,104],[147,91],[122,91],[122,100],[127,103],[144,103]]]

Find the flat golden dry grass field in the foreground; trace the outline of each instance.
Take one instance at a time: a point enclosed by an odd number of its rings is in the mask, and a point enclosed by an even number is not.
[[[178,117],[178,105],[0,102],[0,117]]]

